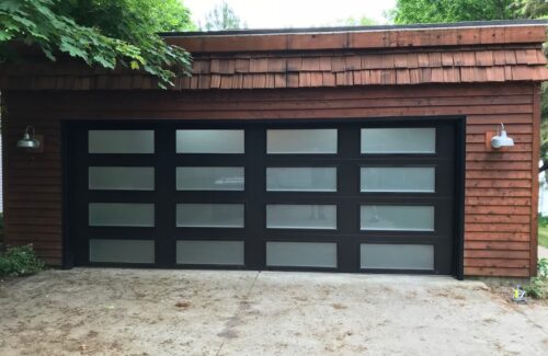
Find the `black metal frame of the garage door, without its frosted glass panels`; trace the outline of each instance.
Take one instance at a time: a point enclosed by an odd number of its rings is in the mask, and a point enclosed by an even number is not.
[[[88,202],[135,202],[148,199],[155,202],[156,228],[151,228],[150,236],[157,240],[156,264],[141,265],[147,267],[191,267],[191,268],[235,268],[235,266],[222,265],[176,265],[174,241],[192,237],[195,239],[212,239],[215,236],[219,240],[219,229],[192,229],[175,227],[176,202],[237,202],[246,205],[246,219],[243,229],[224,229],[222,234],[227,240],[244,238],[247,269],[292,269],[292,271],[338,271],[361,272],[359,269],[359,243],[361,242],[406,242],[413,243],[409,239],[415,239],[415,233],[403,233],[401,237],[390,237],[384,231],[363,232],[359,231],[359,203],[386,204],[398,200],[398,203],[429,204],[432,199],[425,198],[423,194],[406,194],[396,196],[391,194],[363,194],[359,193],[359,170],[363,164],[390,165],[398,162],[410,163],[409,154],[397,157],[366,157],[359,154],[359,129],[361,127],[415,127],[435,126],[446,130],[444,140],[452,140],[450,145],[443,146],[439,135],[436,135],[436,158],[418,154],[416,162],[411,164],[434,164],[443,172],[439,176],[447,176],[450,181],[438,180],[436,173],[436,193],[443,192],[450,196],[444,204],[435,203],[436,206],[436,233],[438,228],[444,230],[448,237],[447,243],[435,249],[435,271],[430,273],[452,274],[461,278],[463,276],[463,236],[464,236],[464,117],[397,117],[397,118],[367,118],[367,119],[298,119],[298,120],[95,120],[95,122],[64,122],[62,125],[62,159],[64,159],[64,261],[65,266],[71,265],[116,265],[124,264],[89,264],[88,238],[92,233],[104,237],[139,236],[134,228],[90,228],[87,221]],[[266,128],[338,128],[339,150],[336,154],[266,154],[265,131]],[[82,152],[87,152],[88,129],[146,129],[156,130],[156,153],[150,157],[132,154],[132,157],[106,154],[104,157],[89,157],[82,159]],[[178,128],[240,128],[246,130],[246,154],[190,154],[182,156],[175,152],[175,129]],[[437,130],[436,130],[437,131]],[[438,146],[442,145],[442,146]],[[445,148],[444,148],[445,147]],[[450,147],[450,151],[446,147]],[[439,151],[442,150],[442,151]],[[414,154],[413,154],[414,157]],[[132,197],[132,192],[88,192],[87,180],[82,180],[82,172],[87,172],[90,163],[104,165],[105,163],[119,165],[123,160],[126,165],[153,165],[156,166],[155,192],[146,193],[144,196]],[[176,165],[222,165],[244,166],[244,192],[175,192]],[[390,161],[391,160],[391,161]],[[390,161],[387,163],[387,161]],[[449,163],[450,162],[450,163]],[[265,168],[266,166],[336,166],[338,191],[333,193],[297,193],[297,192],[266,192]],[[437,171],[437,170],[436,170]],[[79,173],[76,173],[79,172]],[[76,174],[75,174],[76,173]],[[87,173],[85,173],[87,175]],[[344,177],[341,179],[341,177]],[[84,182],[85,181],[85,182]],[[438,183],[441,184],[438,186]],[[441,191],[438,192],[438,188]],[[450,202],[449,202],[450,200]],[[336,230],[274,230],[265,228],[265,205],[267,203],[330,203],[338,206]],[[85,205],[85,207],[84,207]],[[444,211],[442,214],[442,210]],[[85,214],[84,214],[85,211]],[[450,213],[449,213],[450,211]],[[439,215],[439,216],[438,216]],[[443,216],[454,217],[450,223],[442,223]],[[439,222],[438,222],[439,221]],[[138,228],[142,229],[142,228]],[[122,231],[125,230],[125,231]],[[208,231],[209,230],[209,231]],[[215,232],[215,233],[212,233]],[[136,234],[137,233],[137,234]],[[364,233],[367,237],[364,239]],[[313,236],[312,236],[313,234]],[[393,233],[391,233],[393,234]],[[424,233],[421,233],[424,236]],[[290,238],[289,238],[290,237]],[[265,266],[265,241],[315,241],[336,242],[338,244],[338,268],[310,268],[310,267],[275,267]],[[433,242],[439,245],[439,240],[433,236],[423,238],[419,242]],[[443,257],[442,257],[443,256]],[[88,262],[87,262],[88,261]],[[127,266],[139,266],[128,264]],[[362,271],[364,272],[364,271]],[[365,272],[373,273],[402,273],[402,271],[379,269]],[[404,271],[403,273],[424,273]],[[426,272],[427,273],[427,272]]]

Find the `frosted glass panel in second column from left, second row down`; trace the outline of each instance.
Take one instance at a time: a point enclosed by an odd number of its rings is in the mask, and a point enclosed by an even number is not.
[[[178,166],[178,191],[243,191],[242,166]]]

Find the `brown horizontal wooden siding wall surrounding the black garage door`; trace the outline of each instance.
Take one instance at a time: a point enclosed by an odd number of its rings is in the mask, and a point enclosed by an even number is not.
[[[529,276],[536,266],[538,87],[533,83],[202,92],[7,92],[5,238],[61,262],[60,119],[356,118],[466,115],[465,275]],[[488,152],[506,125],[516,145]],[[26,125],[45,152],[15,148]]]

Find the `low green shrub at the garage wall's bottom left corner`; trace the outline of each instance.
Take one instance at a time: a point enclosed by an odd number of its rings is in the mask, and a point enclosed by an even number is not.
[[[0,276],[27,276],[42,269],[44,263],[36,256],[32,244],[0,252]]]

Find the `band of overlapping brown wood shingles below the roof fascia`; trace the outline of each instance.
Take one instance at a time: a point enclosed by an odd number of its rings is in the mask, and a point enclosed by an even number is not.
[[[541,81],[548,79],[545,66],[540,48],[453,51],[439,48],[397,54],[198,54],[193,62],[193,77],[176,78],[172,90]],[[27,66],[25,71],[19,71],[16,65],[3,67],[10,74],[0,77],[0,87],[13,89],[158,88],[149,76],[124,69],[115,73],[101,69],[91,72],[84,65],[64,62]],[[43,72],[52,76],[36,79]]]

